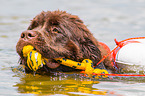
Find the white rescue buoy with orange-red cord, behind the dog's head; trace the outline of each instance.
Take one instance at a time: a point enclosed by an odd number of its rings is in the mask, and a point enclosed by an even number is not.
[[[145,39],[124,40],[116,52],[115,59],[119,64],[145,66]]]

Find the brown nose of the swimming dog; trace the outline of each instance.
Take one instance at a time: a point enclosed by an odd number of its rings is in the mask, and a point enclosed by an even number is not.
[[[21,33],[21,38],[24,40],[32,39],[37,36],[37,33],[35,31],[27,30]]]

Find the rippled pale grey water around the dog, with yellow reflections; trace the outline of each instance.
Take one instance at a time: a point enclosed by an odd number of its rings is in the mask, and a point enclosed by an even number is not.
[[[78,74],[33,76],[18,69],[15,45],[30,20],[42,10],[78,15],[111,49],[113,41],[145,36],[144,0],[0,0],[0,95],[144,96],[145,78],[91,80]]]

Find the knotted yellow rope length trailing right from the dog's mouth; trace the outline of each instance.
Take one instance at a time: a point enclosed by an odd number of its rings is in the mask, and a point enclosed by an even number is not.
[[[76,62],[76,61],[72,61],[72,60],[69,60],[69,59],[65,59],[65,58],[56,58],[55,60],[57,60],[59,63],[65,65],[65,66],[69,66],[69,67],[72,67],[72,68],[75,68],[75,69],[81,69],[81,70],[84,70],[84,72],[86,74],[93,74],[95,73],[97,76],[95,78],[107,78],[108,76],[105,75],[105,74],[108,74],[108,71],[105,70],[105,69],[99,69],[99,68],[96,68],[94,69],[93,68],[93,62],[92,60],[90,59],[84,59],[82,61],[82,63],[80,62]],[[104,74],[104,75],[100,75],[100,74]]]

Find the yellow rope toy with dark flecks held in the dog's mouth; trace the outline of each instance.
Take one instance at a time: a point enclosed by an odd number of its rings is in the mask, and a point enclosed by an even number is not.
[[[27,66],[31,70],[37,71],[38,69],[43,67],[43,65],[45,65],[44,60],[47,60],[47,59],[43,58],[39,52],[33,49],[34,49],[33,46],[27,45],[23,47],[22,51],[23,51],[23,56],[27,57]],[[108,71],[105,69],[99,69],[99,68],[94,69],[93,62],[90,59],[84,59],[82,62],[76,62],[76,61],[72,61],[65,58],[55,58],[55,60],[61,63],[62,65],[83,70],[84,73],[89,74],[89,75],[95,73],[95,74],[104,74],[104,75],[100,75],[100,77],[103,77],[103,78],[108,77],[107,75],[105,75],[105,74],[108,74]]]

